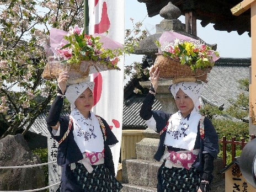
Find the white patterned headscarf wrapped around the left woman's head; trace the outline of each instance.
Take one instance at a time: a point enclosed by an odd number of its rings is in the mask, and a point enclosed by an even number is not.
[[[94,88],[94,82],[82,82],[82,83],[78,83],[78,84],[72,84],[71,86],[68,86],[67,90],[66,90],[66,98],[68,100],[68,102],[70,102],[71,105],[71,111],[74,110],[74,108],[76,108],[76,105],[74,104],[74,102],[76,101],[76,99],[84,92],[84,90],[86,90],[87,88],[89,88],[90,90],[93,91]]]

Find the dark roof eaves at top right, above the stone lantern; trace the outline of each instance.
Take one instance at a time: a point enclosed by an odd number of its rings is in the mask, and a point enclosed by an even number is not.
[[[198,0],[137,0],[143,2],[147,7],[148,17],[158,15],[159,12],[169,2],[180,9],[182,15],[185,15],[188,10],[193,10],[196,15],[196,20],[200,20],[201,25],[205,27],[209,23],[214,24],[214,29],[219,31],[237,31],[239,35],[249,33],[250,26],[250,7],[242,8],[241,0],[222,0],[222,1],[198,1]],[[189,2],[189,3],[188,3]],[[238,8],[238,5],[240,6]],[[239,17],[233,15],[231,8],[237,6],[235,12],[241,11]],[[166,18],[164,18],[166,19]]]

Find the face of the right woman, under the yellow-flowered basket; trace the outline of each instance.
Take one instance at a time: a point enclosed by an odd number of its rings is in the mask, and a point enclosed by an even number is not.
[[[184,118],[188,116],[194,108],[193,100],[185,94],[182,89],[178,90],[175,97],[175,103],[177,108],[182,112]]]

